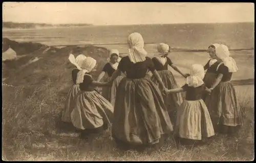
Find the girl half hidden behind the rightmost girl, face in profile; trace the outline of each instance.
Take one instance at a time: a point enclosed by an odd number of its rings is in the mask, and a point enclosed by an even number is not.
[[[216,47],[218,47],[219,44],[212,44],[208,47],[208,53],[210,56],[210,60],[206,63],[204,66],[204,70],[206,70],[205,76],[204,76],[204,83],[207,88],[211,88],[212,84],[214,84],[218,73],[217,73],[217,66],[220,64],[220,62],[216,59]],[[206,97],[210,96],[208,93],[203,94],[203,100],[206,100]],[[206,101],[205,101],[206,102]]]

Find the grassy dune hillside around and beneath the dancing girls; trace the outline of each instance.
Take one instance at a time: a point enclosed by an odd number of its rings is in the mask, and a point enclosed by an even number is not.
[[[42,53],[39,50],[23,59],[4,63],[4,160],[251,160],[254,157],[253,86],[236,86],[244,119],[244,126],[236,138],[217,135],[209,145],[176,149],[170,135],[160,151],[148,149],[141,153],[116,149],[109,130],[101,135],[92,135],[87,141],[80,140],[78,133],[60,122],[60,113],[72,85],[74,66],[68,61],[71,49],[75,55],[84,53],[97,60],[99,68],[94,77],[100,73],[108,57],[106,48],[70,46],[55,52]],[[200,54],[172,55],[183,70],[187,70],[191,63],[204,63],[199,61]],[[24,66],[34,57],[41,59]],[[237,61],[240,59],[238,64],[243,71],[239,75],[242,76],[253,61],[239,55],[236,58]],[[175,75],[182,84],[183,79],[177,73]]]

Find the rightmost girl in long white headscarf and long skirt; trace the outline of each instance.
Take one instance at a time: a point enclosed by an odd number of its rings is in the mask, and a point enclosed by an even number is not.
[[[206,103],[212,112],[212,121],[219,133],[233,135],[242,126],[242,115],[236,95],[236,90],[230,83],[233,72],[238,71],[236,61],[229,57],[227,46],[221,44],[216,47],[218,77],[212,90],[209,103]]]

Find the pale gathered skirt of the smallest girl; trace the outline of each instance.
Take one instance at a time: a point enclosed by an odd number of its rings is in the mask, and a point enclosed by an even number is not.
[[[202,140],[215,135],[214,126],[202,99],[184,100],[177,112],[175,134],[179,138]]]

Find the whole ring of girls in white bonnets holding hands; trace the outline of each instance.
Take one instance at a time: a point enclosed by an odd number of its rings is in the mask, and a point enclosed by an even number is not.
[[[227,46],[210,45],[207,64],[194,64],[184,74],[167,57],[168,45],[160,43],[160,57],[151,59],[139,33],[129,35],[127,44],[129,53],[122,59],[118,50],[110,50],[97,80],[90,75],[97,67],[95,59],[69,56],[76,69],[62,121],[80,129],[82,138],[111,126],[116,146],[134,149],[163,144],[172,132],[184,145],[205,143],[217,133],[237,133],[242,117],[230,79],[238,68]],[[184,86],[178,87],[168,65],[185,78]],[[153,75],[145,77],[149,71]],[[109,77],[102,83],[105,73]],[[186,92],[184,100],[181,92]]]

